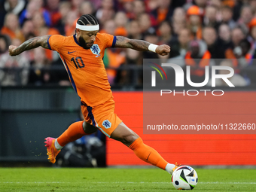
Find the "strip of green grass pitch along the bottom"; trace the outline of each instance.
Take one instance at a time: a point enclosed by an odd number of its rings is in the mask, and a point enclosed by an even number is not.
[[[256,169],[196,169],[193,191],[256,191]],[[0,168],[0,191],[177,191],[161,169]]]

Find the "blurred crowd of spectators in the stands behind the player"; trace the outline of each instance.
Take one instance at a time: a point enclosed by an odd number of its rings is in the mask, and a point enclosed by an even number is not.
[[[93,14],[100,32],[169,44],[168,56],[131,49],[105,50],[111,85],[142,85],[143,58],[189,59],[181,66],[210,65],[200,59],[223,59],[218,65],[236,68],[233,84],[256,82],[256,0],[0,0],[0,84],[69,85],[57,53],[38,47],[8,56],[8,45],[20,45],[38,35],[73,35],[83,14]],[[194,62],[193,59],[199,59]],[[224,59],[233,59],[229,62]],[[117,69],[117,70],[116,70]],[[235,77],[236,76],[236,77]],[[221,85],[222,82],[219,82]]]

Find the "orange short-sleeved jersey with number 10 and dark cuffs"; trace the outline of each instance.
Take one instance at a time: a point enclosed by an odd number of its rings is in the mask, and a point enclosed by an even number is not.
[[[51,35],[48,38],[48,47],[59,53],[72,86],[81,102],[88,106],[99,105],[112,97],[103,56],[105,48],[114,47],[115,42],[115,36],[98,33],[93,46],[86,50],[75,35]]]

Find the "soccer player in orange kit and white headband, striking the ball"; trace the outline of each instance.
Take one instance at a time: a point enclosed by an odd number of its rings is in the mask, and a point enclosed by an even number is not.
[[[145,145],[142,139],[114,113],[114,100],[103,64],[104,52],[108,47],[151,50],[164,56],[170,52],[168,45],[157,46],[147,41],[101,34],[96,18],[86,14],[78,19],[75,35],[35,37],[18,47],[10,45],[9,53],[11,56],[16,56],[39,46],[59,53],[72,86],[81,98],[81,110],[84,114],[83,121],[72,123],[57,139],[50,137],[45,139],[50,163],[55,163],[56,155],[67,143],[99,129],[105,136],[129,147],[141,160],[172,174],[177,166],[168,163],[154,148]]]

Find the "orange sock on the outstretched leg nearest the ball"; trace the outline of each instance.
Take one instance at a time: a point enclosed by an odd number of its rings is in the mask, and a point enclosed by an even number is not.
[[[168,162],[164,160],[154,148],[145,145],[140,137],[136,139],[129,148],[132,149],[141,160],[151,163],[151,165],[157,166],[163,170],[166,169]]]

